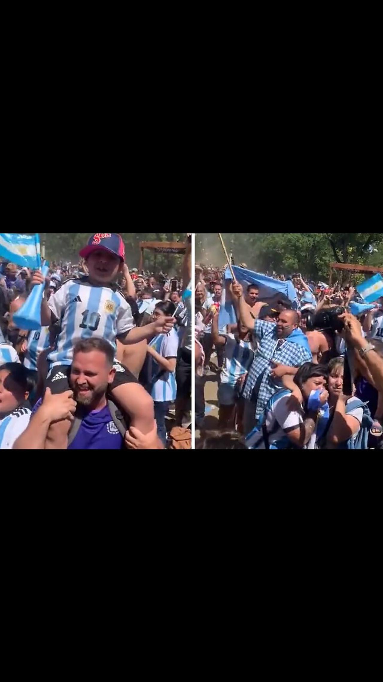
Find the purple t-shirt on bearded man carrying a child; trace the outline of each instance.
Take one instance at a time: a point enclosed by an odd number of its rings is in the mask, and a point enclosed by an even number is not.
[[[42,404],[38,400],[32,414],[37,412]],[[110,409],[106,405],[102,410],[94,410],[82,419],[80,428],[68,450],[121,450],[123,436],[114,424]]]

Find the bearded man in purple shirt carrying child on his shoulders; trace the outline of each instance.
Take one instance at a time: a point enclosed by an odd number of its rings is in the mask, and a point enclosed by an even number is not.
[[[114,381],[119,364],[114,363],[114,351],[102,338],[89,338],[74,348],[70,370],[70,391],[51,394],[46,389],[44,400],[33,409],[27,430],[14,449],[44,449],[50,424],[59,419],[76,419],[76,434],[69,434],[68,450],[121,450],[124,443],[132,449],[162,449],[157,438],[157,426],[147,435],[130,428],[124,436],[115,424],[108,402],[108,389]],[[78,422],[80,421],[80,425]]]

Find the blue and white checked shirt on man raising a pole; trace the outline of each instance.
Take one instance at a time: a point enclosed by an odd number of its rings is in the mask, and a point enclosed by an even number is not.
[[[242,395],[243,398],[251,400],[254,386],[263,374],[256,402],[256,419],[258,419],[271,396],[281,389],[280,380],[274,380],[270,376],[273,360],[290,367],[301,367],[305,362],[312,361],[313,356],[310,351],[293,341],[278,339],[277,325],[273,322],[256,320],[254,333],[260,344],[249,369]]]

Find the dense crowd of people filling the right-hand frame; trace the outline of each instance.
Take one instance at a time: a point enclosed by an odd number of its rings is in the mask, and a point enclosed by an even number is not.
[[[242,268],[247,268],[245,263]],[[353,286],[290,279],[294,297],[196,267],[196,428],[202,449],[381,448],[383,297],[365,312]],[[245,277],[243,278],[245,280]],[[224,293],[224,298],[223,298]],[[236,323],[222,326],[230,301]],[[353,308],[355,312],[355,307]],[[217,363],[211,364],[212,351]],[[206,381],[217,375],[218,423],[206,429]]]

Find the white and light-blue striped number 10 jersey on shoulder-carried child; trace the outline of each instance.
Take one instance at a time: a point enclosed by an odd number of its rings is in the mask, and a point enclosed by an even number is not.
[[[67,280],[50,297],[48,307],[61,321],[56,349],[48,355],[50,369],[72,364],[74,346],[84,339],[104,338],[116,352],[116,337],[134,327],[123,296],[109,286],[89,284],[87,278]]]

